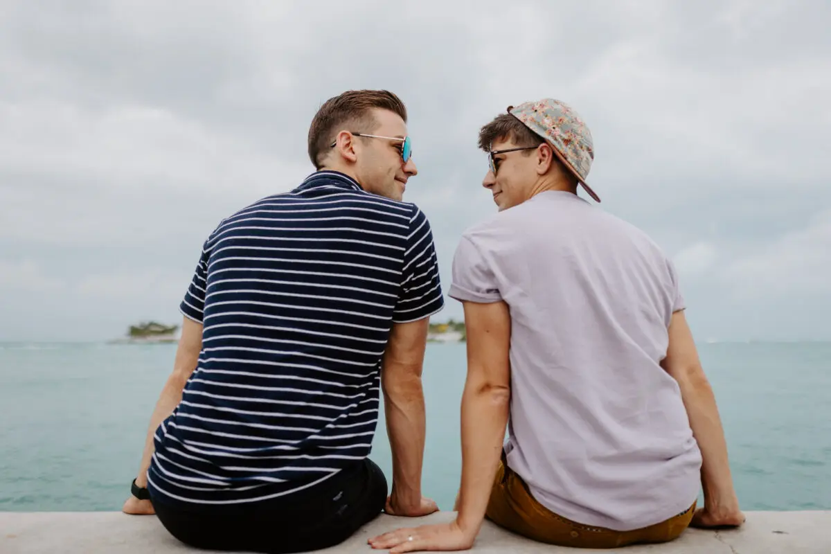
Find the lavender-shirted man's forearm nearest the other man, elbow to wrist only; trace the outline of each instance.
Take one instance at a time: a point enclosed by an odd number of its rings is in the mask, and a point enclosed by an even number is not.
[[[476,534],[484,520],[508,424],[507,387],[466,385],[462,395],[459,526]]]

